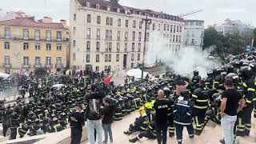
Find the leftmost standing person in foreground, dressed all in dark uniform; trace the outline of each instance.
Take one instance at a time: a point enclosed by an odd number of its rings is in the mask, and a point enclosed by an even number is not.
[[[82,138],[82,127],[85,126],[84,116],[81,114],[82,107],[77,106],[76,111],[70,114],[71,144],[79,144]]]

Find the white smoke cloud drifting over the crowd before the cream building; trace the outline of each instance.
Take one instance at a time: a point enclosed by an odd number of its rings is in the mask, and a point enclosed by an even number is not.
[[[193,76],[193,71],[198,70],[202,78],[206,78],[207,71],[221,66],[218,62],[210,60],[209,51],[195,50],[194,47],[181,47],[173,50],[167,43],[170,38],[163,38],[162,34],[154,33],[150,35],[149,48],[146,53],[146,64],[151,65],[156,62],[156,58],[170,66],[175,74],[182,76]]]

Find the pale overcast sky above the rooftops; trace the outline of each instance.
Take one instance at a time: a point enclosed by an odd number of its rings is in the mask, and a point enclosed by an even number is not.
[[[49,16],[55,21],[69,18],[70,0],[0,0],[0,9],[23,10],[37,18]],[[223,22],[226,18],[240,19],[256,26],[256,0],[120,0],[125,6],[184,14],[203,9],[184,18],[201,19],[205,25]]]

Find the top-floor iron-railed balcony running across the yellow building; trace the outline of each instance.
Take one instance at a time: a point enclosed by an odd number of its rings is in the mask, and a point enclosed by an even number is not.
[[[0,34],[0,39],[10,39],[10,40],[18,40],[18,41],[69,42],[69,38],[36,37],[36,36],[24,38],[23,35],[5,35],[5,34]]]

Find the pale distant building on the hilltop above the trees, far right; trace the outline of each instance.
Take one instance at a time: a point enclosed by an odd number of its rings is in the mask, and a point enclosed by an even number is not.
[[[232,21],[229,18],[221,24],[215,24],[214,28],[222,34],[234,34],[235,32],[241,34],[253,34],[254,31],[254,26],[247,25],[240,20]]]

